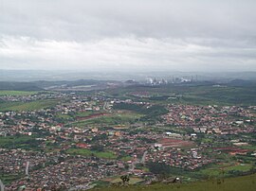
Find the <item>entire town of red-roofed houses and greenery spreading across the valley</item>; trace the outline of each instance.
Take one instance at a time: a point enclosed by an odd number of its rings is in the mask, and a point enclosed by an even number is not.
[[[172,103],[180,96],[174,95],[161,104],[164,113],[147,121],[156,105],[144,101],[150,93],[130,96],[136,99],[104,91],[0,96],[13,103],[57,100],[45,109],[0,113],[0,176],[13,178],[5,189],[88,189],[124,174],[152,182],[148,165],[155,163],[198,173],[217,164],[228,171],[228,157],[232,166],[253,168],[243,156],[256,157],[248,136],[256,132],[255,106]]]

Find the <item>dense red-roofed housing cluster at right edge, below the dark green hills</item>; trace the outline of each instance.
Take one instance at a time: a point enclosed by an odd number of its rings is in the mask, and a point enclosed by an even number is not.
[[[239,134],[254,131],[255,113],[238,106],[169,105],[166,124],[191,128],[196,133]]]

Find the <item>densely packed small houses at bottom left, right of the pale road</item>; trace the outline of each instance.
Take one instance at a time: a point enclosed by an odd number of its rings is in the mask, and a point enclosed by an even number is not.
[[[6,190],[52,190],[53,187],[86,188],[90,182],[101,180],[108,176],[119,175],[122,168],[116,161],[92,158],[66,158],[56,165],[31,171],[26,177],[11,182]]]

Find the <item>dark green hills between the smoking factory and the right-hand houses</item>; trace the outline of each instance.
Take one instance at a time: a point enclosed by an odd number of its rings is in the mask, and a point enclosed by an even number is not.
[[[179,103],[191,105],[255,105],[256,85],[251,86],[226,84],[214,87],[214,83],[167,84],[162,86],[129,86],[111,90],[110,96],[132,98],[135,101],[152,103]],[[151,97],[129,97],[131,92],[148,92]],[[175,97],[168,99],[168,96]],[[166,99],[167,98],[167,99]]]

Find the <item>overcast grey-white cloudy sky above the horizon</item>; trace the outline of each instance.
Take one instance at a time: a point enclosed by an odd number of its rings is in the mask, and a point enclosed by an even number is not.
[[[256,0],[0,0],[0,69],[256,71]]]

